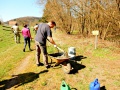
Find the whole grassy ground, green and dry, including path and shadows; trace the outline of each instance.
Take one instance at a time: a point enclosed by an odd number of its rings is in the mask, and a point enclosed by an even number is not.
[[[34,37],[32,29],[31,33]],[[74,68],[70,74],[65,74],[60,65],[48,70],[44,66],[37,67],[34,40],[31,42],[34,51],[29,52],[27,48],[22,52],[22,36],[21,43],[15,44],[13,33],[0,26],[0,90],[60,90],[63,80],[72,90],[89,90],[96,78],[101,90],[120,89],[120,48],[98,40],[95,50],[94,38],[66,35],[60,31],[53,32],[53,38],[66,52],[71,46],[76,48],[77,57],[70,60]],[[53,45],[47,44],[48,53],[57,52]]]

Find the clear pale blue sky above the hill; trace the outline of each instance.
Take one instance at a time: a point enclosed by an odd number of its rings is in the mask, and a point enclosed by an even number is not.
[[[0,19],[5,22],[25,16],[42,17],[44,6],[40,6],[37,1],[0,0]]]

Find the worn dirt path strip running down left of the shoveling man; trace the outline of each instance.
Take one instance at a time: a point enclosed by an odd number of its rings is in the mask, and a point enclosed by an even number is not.
[[[17,77],[17,75],[20,75],[22,73],[24,73],[24,71],[26,70],[27,67],[29,67],[29,63],[31,62],[31,58],[34,55],[34,53],[30,53],[29,55],[27,55],[19,64],[18,67],[16,67],[11,73],[12,78],[7,82],[5,88],[7,90],[15,90],[15,85],[17,85],[19,83],[19,77]]]

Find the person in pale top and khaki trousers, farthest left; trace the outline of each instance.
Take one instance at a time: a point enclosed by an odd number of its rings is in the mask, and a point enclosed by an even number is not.
[[[12,30],[14,33],[15,43],[20,43],[20,29],[17,23],[14,26],[12,26]]]

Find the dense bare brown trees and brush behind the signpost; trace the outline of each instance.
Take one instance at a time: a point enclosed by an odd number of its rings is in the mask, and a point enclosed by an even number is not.
[[[99,30],[99,38],[120,35],[120,0],[38,0],[45,4],[42,21],[55,20],[67,34],[84,37]]]

